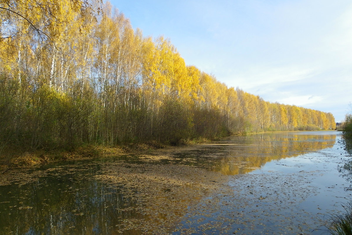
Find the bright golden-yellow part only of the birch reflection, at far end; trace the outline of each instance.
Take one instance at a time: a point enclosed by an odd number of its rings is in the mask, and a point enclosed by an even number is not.
[[[218,166],[213,171],[230,175],[248,173],[264,166],[268,161],[331,148],[335,140],[335,135],[299,133],[260,133],[249,138],[243,137],[244,145],[229,145],[227,156],[219,159]]]

